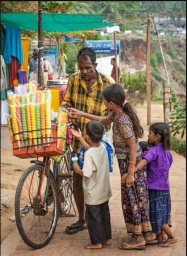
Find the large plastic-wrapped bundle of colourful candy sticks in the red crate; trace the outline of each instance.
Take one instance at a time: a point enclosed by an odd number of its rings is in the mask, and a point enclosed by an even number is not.
[[[11,118],[8,117],[11,141],[14,136],[19,148],[34,146],[35,149],[42,147],[46,141],[49,143],[51,91],[36,91],[36,85],[29,84],[26,94],[15,94],[9,91],[8,101],[11,114]]]

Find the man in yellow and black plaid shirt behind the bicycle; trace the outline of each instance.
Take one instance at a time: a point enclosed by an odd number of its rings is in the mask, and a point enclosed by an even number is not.
[[[90,120],[81,117],[81,111],[93,115],[106,116],[108,109],[103,103],[102,92],[106,86],[114,84],[115,81],[110,76],[96,71],[98,63],[96,63],[96,53],[93,48],[85,47],[79,50],[77,61],[79,72],[70,76],[62,106],[66,109],[73,107],[80,110],[79,118],[71,116],[71,113],[69,113],[69,116],[73,119],[76,118],[75,122],[79,125],[83,138],[85,138],[85,125]],[[110,125],[104,127],[105,137],[107,135],[109,140],[110,127]],[[74,137],[71,146],[73,149],[72,157],[76,154],[78,158],[83,159],[83,152],[81,152],[81,143],[79,140]],[[83,162],[81,160],[78,161],[78,164],[80,168],[83,168]],[[66,233],[68,234],[74,234],[87,229],[85,225],[82,176],[75,172],[73,172],[73,191],[79,213],[79,220],[75,224],[66,227]]]

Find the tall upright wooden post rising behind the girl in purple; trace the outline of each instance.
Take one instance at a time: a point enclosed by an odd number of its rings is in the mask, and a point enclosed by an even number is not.
[[[151,124],[151,15],[147,16],[147,56],[146,56],[146,77],[147,77],[147,125]]]

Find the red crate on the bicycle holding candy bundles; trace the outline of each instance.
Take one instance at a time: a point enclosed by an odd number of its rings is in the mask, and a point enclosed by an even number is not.
[[[17,141],[13,137],[13,155],[22,159],[36,158],[36,157],[53,157],[63,155],[64,151],[57,149],[57,126],[51,126],[50,142],[41,145],[40,149],[35,149],[34,145],[31,147],[17,147]]]

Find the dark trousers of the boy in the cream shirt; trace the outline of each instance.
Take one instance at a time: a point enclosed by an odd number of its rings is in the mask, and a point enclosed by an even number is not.
[[[111,239],[108,201],[97,205],[86,204],[86,222],[93,245]]]

